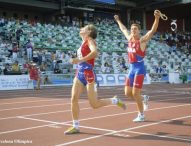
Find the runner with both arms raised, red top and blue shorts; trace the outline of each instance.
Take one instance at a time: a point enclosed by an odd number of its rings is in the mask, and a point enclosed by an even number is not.
[[[142,85],[144,77],[146,75],[144,57],[146,46],[158,28],[159,19],[161,17],[161,13],[159,10],[154,11],[154,17],[155,20],[151,30],[149,30],[144,36],[140,36],[139,24],[132,24],[129,33],[127,28],[122,24],[121,20],[119,19],[119,16],[114,16],[116,22],[119,25],[120,30],[123,32],[124,36],[128,41],[127,52],[130,68],[125,84],[125,95],[127,97],[135,99],[137,103],[138,116],[133,120],[134,122],[145,121],[144,108],[141,96]],[[144,103],[146,103],[148,100],[148,96],[143,97],[145,101]]]

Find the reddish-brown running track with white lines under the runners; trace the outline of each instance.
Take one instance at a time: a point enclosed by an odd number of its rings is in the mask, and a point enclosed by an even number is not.
[[[100,98],[117,94],[127,110],[114,105],[93,110],[81,96],[81,133],[71,126],[71,87],[0,92],[0,146],[191,146],[191,85],[145,85],[151,99],[146,121],[133,123],[134,101],[123,87],[100,87]],[[24,144],[25,142],[25,144]]]

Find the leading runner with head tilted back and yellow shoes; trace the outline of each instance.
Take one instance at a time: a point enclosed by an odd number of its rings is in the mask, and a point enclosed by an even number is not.
[[[123,109],[126,108],[125,104],[116,96],[110,99],[97,98],[96,74],[93,70],[95,58],[97,57],[97,46],[95,42],[97,30],[94,25],[86,25],[81,28],[80,36],[82,38],[82,44],[77,51],[78,56],[71,59],[72,64],[78,65],[71,95],[73,125],[65,131],[65,134],[79,133],[80,109],[78,99],[85,88],[89,103],[93,108],[100,108],[110,104],[118,105]]]

